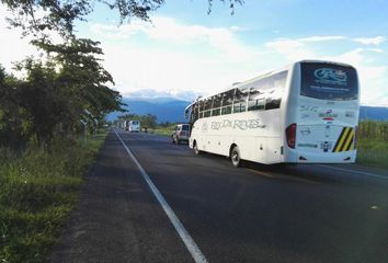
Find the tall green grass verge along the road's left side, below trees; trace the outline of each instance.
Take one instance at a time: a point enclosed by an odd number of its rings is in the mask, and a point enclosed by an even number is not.
[[[0,262],[44,261],[105,135],[56,139],[49,150],[0,149]]]

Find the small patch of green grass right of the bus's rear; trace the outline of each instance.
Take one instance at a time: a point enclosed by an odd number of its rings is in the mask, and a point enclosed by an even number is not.
[[[357,163],[388,169],[388,142],[377,139],[358,140]]]

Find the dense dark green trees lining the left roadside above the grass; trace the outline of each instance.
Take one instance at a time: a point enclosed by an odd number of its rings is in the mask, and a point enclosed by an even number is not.
[[[101,66],[99,43],[73,38],[60,45],[36,43],[47,60],[26,58],[16,78],[0,67],[1,144],[19,147],[36,136],[49,144],[83,126],[95,129],[112,111],[123,111],[121,94],[110,89],[112,76]]]

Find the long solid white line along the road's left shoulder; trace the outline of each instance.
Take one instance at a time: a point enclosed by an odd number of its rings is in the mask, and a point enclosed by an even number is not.
[[[137,168],[140,170],[142,178],[146,180],[146,182],[147,182],[148,186],[150,187],[150,190],[152,191],[155,197],[157,197],[159,204],[161,205],[166,215],[169,217],[170,221],[174,226],[176,232],[181,237],[183,243],[186,245],[189,252],[192,254],[194,261],[197,263],[199,263],[199,262],[206,263],[207,260],[206,260],[205,255],[201,252],[198,245],[194,242],[193,238],[190,236],[187,230],[184,228],[181,220],[176,217],[175,213],[172,210],[170,205],[167,203],[167,201],[164,199],[162,194],[159,192],[157,186],[153,184],[153,182],[148,176],[147,172],[142,169],[140,163],[137,161],[135,156],[132,153],[129,148],[124,144],[123,139],[119,137],[119,135],[116,133],[116,130],[115,129],[113,129],[113,130],[117,135],[118,139],[122,141],[122,144],[123,144],[124,148],[126,149],[126,151],[128,152],[129,157],[133,159],[133,161],[135,162]]]

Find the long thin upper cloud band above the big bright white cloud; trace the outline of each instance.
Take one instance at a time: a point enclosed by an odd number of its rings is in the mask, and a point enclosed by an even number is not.
[[[236,32],[243,31],[238,26],[208,27],[203,25],[185,25],[171,18],[155,16],[152,23],[135,21],[122,26],[91,24],[91,31],[103,37],[113,39],[130,39],[144,34],[149,39],[173,45],[205,44],[222,53],[235,61],[241,61],[256,50],[247,48],[236,36]]]

